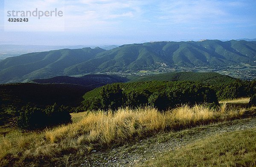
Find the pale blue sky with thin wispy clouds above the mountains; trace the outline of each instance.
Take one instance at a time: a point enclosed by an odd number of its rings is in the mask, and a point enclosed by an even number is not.
[[[18,2],[18,3],[17,3]],[[63,12],[14,17],[7,11]],[[10,23],[9,18],[29,18]],[[122,45],[256,38],[256,0],[0,0],[0,44]]]

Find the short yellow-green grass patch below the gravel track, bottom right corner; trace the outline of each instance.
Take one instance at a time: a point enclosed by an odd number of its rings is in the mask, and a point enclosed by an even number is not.
[[[147,161],[142,167],[255,167],[256,128],[196,141]]]

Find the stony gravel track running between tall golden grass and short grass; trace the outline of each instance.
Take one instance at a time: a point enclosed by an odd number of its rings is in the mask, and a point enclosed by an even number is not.
[[[146,138],[132,145],[116,147],[108,151],[94,150],[79,163],[81,167],[133,167],[143,164],[157,155],[195,142],[198,139],[256,127],[256,118],[234,120],[218,124],[195,127],[189,130],[168,132]],[[77,165],[76,165],[77,166]]]

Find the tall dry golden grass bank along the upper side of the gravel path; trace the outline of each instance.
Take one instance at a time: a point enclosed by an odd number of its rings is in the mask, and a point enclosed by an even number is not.
[[[1,137],[0,166],[12,166],[12,163],[36,166],[47,161],[66,165],[70,154],[81,158],[93,149],[125,144],[166,130],[239,118],[246,111],[225,110],[224,106],[214,111],[204,106],[184,105],[162,113],[150,107],[118,109],[115,113],[88,112],[78,116],[73,124],[40,133],[14,131],[6,138]]]

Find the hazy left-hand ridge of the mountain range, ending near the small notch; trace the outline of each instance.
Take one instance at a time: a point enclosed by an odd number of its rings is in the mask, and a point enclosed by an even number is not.
[[[7,58],[0,61],[0,83],[58,76],[67,67],[90,60],[103,51],[100,48],[61,49]]]

